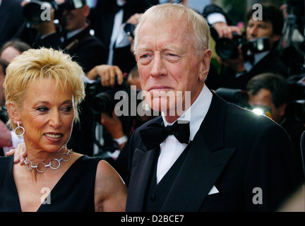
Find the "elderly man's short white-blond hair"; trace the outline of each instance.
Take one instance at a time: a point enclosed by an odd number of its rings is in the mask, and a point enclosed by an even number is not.
[[[137,52],[138,34],[140,32],[140,28],[145,20],[151,17],[154,18],[154,23],[165,23],[165,21],[172,21],[175,23],[175,21],[179,21],[181,18],[184,18],[187,24],[191,25],[191,29],[193,31],[193,34],[185,35],[194,36],[195,40],[193,45],[198,56],[202,56],[205,49],[209,48],[210,28],[205,18],[187,6],[182,4],[168,3],[152,6],[145,11],[143,16],[140,17],[138,25],[134,30],[134,52]]]

